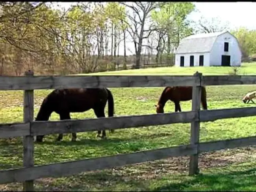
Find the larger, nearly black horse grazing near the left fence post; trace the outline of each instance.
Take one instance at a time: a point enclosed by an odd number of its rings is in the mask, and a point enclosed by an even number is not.
[[[70,112],[84,112],[93,109],[97,117],[105,117],[104,109],[108,101],[108,116],[114,115],[114,100],[110,90],[106,88],[90,89],[61,89],[54,90],[43,100],[36,121],[47,121],[52,112],[58,113],[60,120],[70,119]],[[111,130],[113,132],[113,130]],[[100,137],[98,131],[97,137]],[[38,135],[36,140],[43,141],[44,135]],[[102,131],[102,138],[106,131]],[[62,140],[59,134],[57,140]],[[76,133],[72,133],[72,141],[76,140]]]

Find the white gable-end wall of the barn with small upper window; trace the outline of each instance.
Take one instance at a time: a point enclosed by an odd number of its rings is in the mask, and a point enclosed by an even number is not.
[[[228,39],[225,39],[228,38]],[[224,42],[229,43],[228,52],[224,52]],[[210,66],[221,66],[221,55],[230,55],[231,66],[241,66],[241,51],[236,38],[226,32],[217,37],[210,52]]]

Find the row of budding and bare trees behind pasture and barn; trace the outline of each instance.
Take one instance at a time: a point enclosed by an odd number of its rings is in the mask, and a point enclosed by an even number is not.
[[[79,2],[67,10],[44,2],[1,2],[0,75],[171,66],[180,40],[200,32],[201,25],[187,19],[193,11],[192,2]],[[233,33],[244,55],[255,53],[255,31]]]

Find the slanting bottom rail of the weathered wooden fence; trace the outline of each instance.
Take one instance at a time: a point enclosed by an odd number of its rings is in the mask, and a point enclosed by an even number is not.
[[[232,149],[250,145],[256,145],[256,137],[201,142],[199,143],[199,153],[223,150],[227,148]],[[0,171],[0,184],[23,182],[26,180],[39,179],[43,177],[63,177],[66,175],[78,174],[81,172],[103,170],[107,168],[147,161],[156,161],[169,157],[195,155],[198,153],[197,148],[197,145],[189,144],[171,148],[140,151],[137,153],[98,157],[78,161],[60,162],[33,166],[29,168],[3,170]]]

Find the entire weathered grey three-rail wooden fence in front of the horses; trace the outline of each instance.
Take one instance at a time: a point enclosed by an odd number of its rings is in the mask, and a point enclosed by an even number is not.
[[[33,180],[42,177],[61,177],[80,172],[102,170],[145,161],[190,155],[189,175],[198,173],[198,154],[256,144],[256,136],[199,142],[200,122],[224,118],[256,115],[256,107],[200,111],[201,86],[255,84],[256,76],[33,76],[26,72],[22,77],[0,77],[0,90],[24,90],[24,122],[0,124],[0,138],[24,137],[23,168],[1,170],[0,184],[23,182],[23,189],[32,191]],[[81,87],[166,87],[193,86],[192,111],[139,116],[119,116],[86,120],[33,121],[33,90]],[[33,136],[54,133],[123,129],[131,127],[191,123],[190,144],[158,150],[141,151],[80,161],[60,162],[34,166]]]

